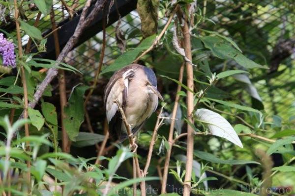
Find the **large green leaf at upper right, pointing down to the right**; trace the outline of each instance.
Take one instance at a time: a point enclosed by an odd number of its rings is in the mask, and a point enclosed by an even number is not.
[[[234,59],[239,65],[252,69],[252,68],[267,68],[266,66],[259,65],[254,61],[245,57],[240,51],[232,46],[231,43],[217,36],[200,37],[207,49],[210,49],[214,56],[221,59]]]

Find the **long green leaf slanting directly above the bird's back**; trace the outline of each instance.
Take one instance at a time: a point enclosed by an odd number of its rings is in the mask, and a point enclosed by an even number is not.
[[[137,55],[141,51],[148,49],[153,44],[155,38],[156,38],[156,35],[152,35],[152,36],[147,37],[135,49],[131,49],[129,51],[126,51],[122,55],[120,55],[115,60],[115,62],[112,65],[110,65],[109,67],[107,67],[106,69],[104,69],[101,72],[101,74],[104,74],[104,73],[107,73],[107,72],[114,72],[114,71],[117,71],[117,70],[131,64],[136,59]]]

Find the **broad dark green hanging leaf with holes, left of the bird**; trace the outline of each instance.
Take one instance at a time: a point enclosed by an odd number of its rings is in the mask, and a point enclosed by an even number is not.
[[[79,129],[84,121],[84,93],[88,86],[74,87],[68,104],[64,108],[64,128],[71,141],[76,141]]]

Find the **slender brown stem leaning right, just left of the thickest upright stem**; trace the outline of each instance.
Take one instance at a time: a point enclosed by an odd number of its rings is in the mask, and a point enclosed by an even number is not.
[[[179,70],[178,82],[180,82],[180,83],[182,83],[183,70],[184,70],[184,63],[181,65],[180,70]],[[178,84],[176,97],[175,97],[175,103],[174,103],[174,107],[173,107],[173,111],[172,111],[172,119],[171,119],[171,124],[170,124],[170,129],[169,129],[169,136],[168,136],[169,149],[167,150],[167,154],[166,154],[166,158],[165,158],[163,181],[162,181],[162,188],[161,188],[162,194],[166,193],[166,184],[167,184],[169,163],[170,163],[170,157],[171,157],[171,152],[172,152],[172,147],[173,147],[174,124],[175,124],[175,118],[176,118],[176,114],[177,114],[178,102],[179,102],[179,98],[180,98],[180,96],[178,95],[178,92],[180,90],[181,90],[181,86]]]

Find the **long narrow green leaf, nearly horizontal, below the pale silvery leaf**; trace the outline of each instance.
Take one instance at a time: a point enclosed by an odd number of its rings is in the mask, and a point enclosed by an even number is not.
[[[223,160],[220,159],[216,156],[214,156],[213,154],[210,154],[208,152],[204,152],[204,151],[199,151],[199,150],[195,150],[194,151],[194,155],[199,157],[200,159],[209,161],[211,163],[219,163],[219,164],[228,164],[228,165],[242,165],[242,164],[259,164],[256,161],[251,161],[251,160]]]

